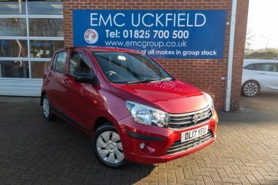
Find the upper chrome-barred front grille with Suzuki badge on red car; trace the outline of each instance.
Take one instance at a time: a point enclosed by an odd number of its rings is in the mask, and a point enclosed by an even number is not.
[[[181,130],[186,127],[204,123],[210,120],[212,116],[213,113],[211,112],[210,107],[186,114],[170,114],[168,127],[175,130]]]

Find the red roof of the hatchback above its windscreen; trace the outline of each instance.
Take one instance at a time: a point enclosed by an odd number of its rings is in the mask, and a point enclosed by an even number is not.
[[[105,47],[105,46],[71,46],[65,49],[81,49],[87,51],[111,51],[111,52],[129,52],[129,53],[140,53],[140,51],[132,49],[121,49],[117,47]]]

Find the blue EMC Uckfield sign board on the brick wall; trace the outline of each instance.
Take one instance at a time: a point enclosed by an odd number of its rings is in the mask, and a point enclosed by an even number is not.
[[[73,10],[74,46],[134,49],[153,58],[222,59],[226,10]]]

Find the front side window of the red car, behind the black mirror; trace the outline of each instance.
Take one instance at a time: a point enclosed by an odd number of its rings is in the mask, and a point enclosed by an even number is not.
[[[69,65],[69,74],[74,76],[76,73],[88,73],[92,74],[92,69],[90,68],[90,62],[88,58],[80,52],[73,51],[70,54],[70,65]]]

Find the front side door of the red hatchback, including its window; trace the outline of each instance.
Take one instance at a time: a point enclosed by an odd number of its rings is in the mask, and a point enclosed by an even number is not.
[[[77,73],[95,73],[83,51],[71,51],[67,74],[65,75],[65,116],[83,130],[90,131],[97,109],[97,91],[91,84],[74,80]],[[95,102],[95,103],[94,103]]]

